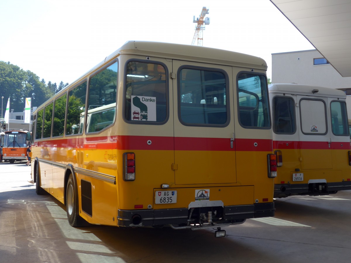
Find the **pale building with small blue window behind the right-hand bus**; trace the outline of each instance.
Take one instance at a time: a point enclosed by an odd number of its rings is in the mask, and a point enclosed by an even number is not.
[[[316,49],[273,53],[272,83],[298,83],[343,90],[351,119],[351,77],[341,76]]]

